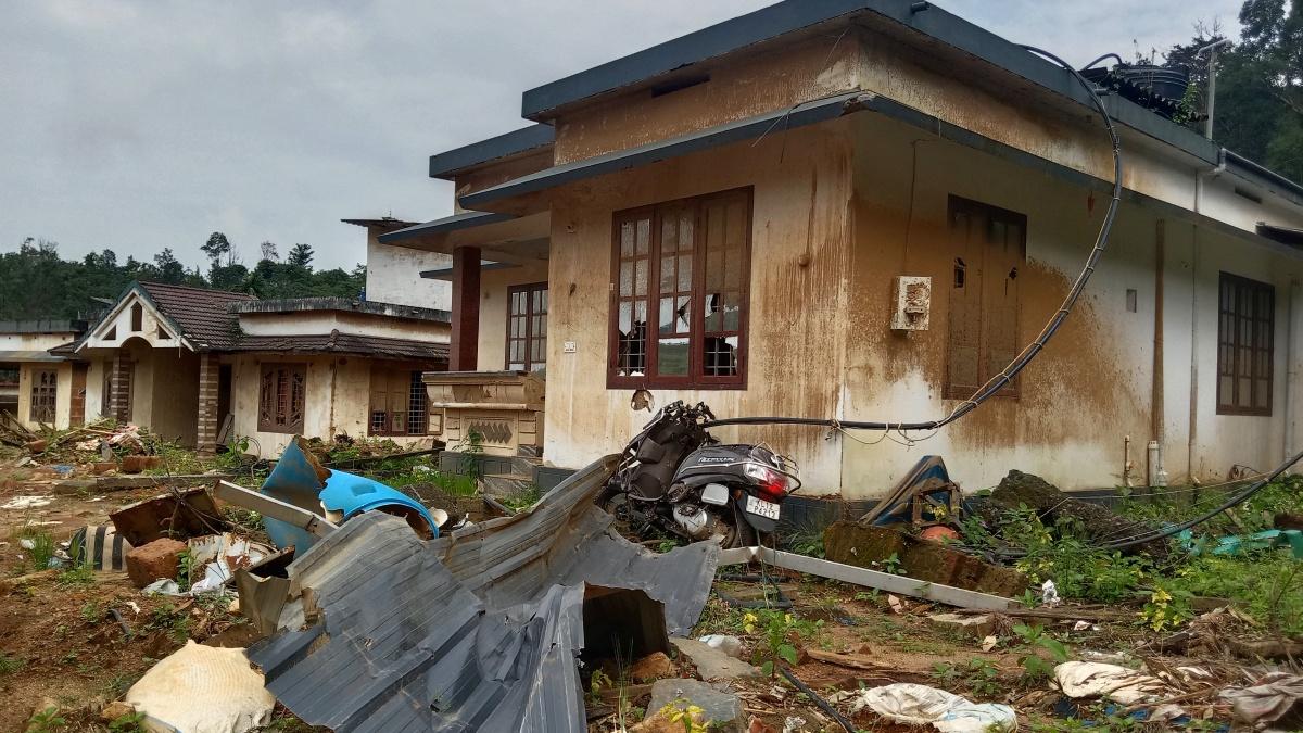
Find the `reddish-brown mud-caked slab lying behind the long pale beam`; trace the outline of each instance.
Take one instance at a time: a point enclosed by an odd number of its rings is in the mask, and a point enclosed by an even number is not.
[[[939,543],[917,540],[890,527],[835,522],[823,532],[827,558],[844,565],[882,570],[895,556],[900,573],[917,580],[943,583],[997,596],[1020,596],[1027,576],[1011,567],[982,562]],[[877,565],[874,565],[877,563]]]

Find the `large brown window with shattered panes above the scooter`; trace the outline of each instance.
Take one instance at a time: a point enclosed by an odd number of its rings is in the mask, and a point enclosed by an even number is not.
[[[611,387],[741,389],[752,190],[614,218]]]

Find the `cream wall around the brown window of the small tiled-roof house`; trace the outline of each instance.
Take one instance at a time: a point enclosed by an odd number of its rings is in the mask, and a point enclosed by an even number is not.
[[[371,365],[384,363],[356,356],[228,356],[223,363],[232,365],[232,433],[254,438],[257,442],[250,447],[251,451],[258,451],[263,458],[275,458],[293,438],[287,433],[258,430],[261,365],[274,361],[308,365],[305,437],[331,440],[340,433],[353,437],[366,436],[371,406]],[[399,436],[388,440],[404,445],[429,445],[430,441],[423,436]]]

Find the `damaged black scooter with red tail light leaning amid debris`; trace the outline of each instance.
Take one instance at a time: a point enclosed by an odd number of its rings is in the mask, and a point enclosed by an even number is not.
[[[774,531],[796,464],[765,445],[722,445],[704,403],[661,408],[622,454],[598,506],[638,535],[655,527],[687,540],[753,546]]]

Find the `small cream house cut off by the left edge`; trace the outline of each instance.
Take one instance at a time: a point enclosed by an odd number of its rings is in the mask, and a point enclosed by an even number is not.
[[[0,321],[0,411],[31,429],[86,417],[86,364],[69,347],[86,321]]]

